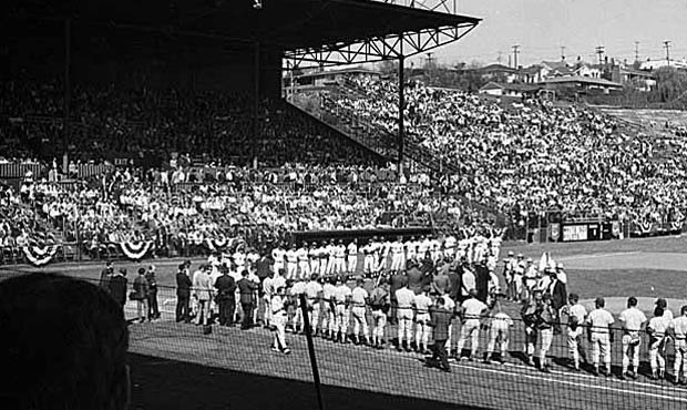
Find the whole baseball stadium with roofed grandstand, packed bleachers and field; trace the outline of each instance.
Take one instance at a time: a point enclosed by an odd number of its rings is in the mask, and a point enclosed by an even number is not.
[[[129,408],[687,408],[684,111],[428,85],[447,0],[2,8],[0,324],[116,303]]]

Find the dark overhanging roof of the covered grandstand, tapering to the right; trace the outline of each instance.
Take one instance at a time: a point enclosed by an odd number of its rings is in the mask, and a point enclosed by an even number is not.
[[[14,18],[62,19],[75,23],[160,29],[180,35],[232,41],[257,39],[281,50],[356,43],[480,19],[371,0],[9,0]]]

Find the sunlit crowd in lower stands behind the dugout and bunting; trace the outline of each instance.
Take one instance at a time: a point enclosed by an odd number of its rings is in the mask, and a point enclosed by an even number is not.
[[[206,240],[243,238],[262,248],[291,232],[481,226],[460,198],[434,195],[425,174],[393,168],[287,164],[278,168],[193,165],[117,167],[60,184],[24,181],[2,191],[1,245],[59,232],[91,256],[111,244],[152,240],[157,255],[197,255]],[[470,234],[466,234],[470,235]],[[38,236],[38,237],[37,237]],[[212,250],[212,248],[211,248]],[[106,254],[105,254],[106,256]]]

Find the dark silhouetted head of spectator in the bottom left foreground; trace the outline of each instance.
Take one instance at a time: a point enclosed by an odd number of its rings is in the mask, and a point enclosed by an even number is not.
[[[95,285],[51,274],[0,281],[0,406],[123,410],[129,330]]]

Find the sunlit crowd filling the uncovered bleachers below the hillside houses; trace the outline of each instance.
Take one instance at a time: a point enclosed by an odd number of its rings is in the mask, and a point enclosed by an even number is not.
[[[396,133],[398,85],[355,78],[357,92],[332,95],[339,109]],[[626,134],[604,114],[529,100],[502,106],[475,94],[406,85],[408,137],[460,173],[450,187],[510,212],[660,222],[687,205],[685,152],[657,161],[653,141]]]

